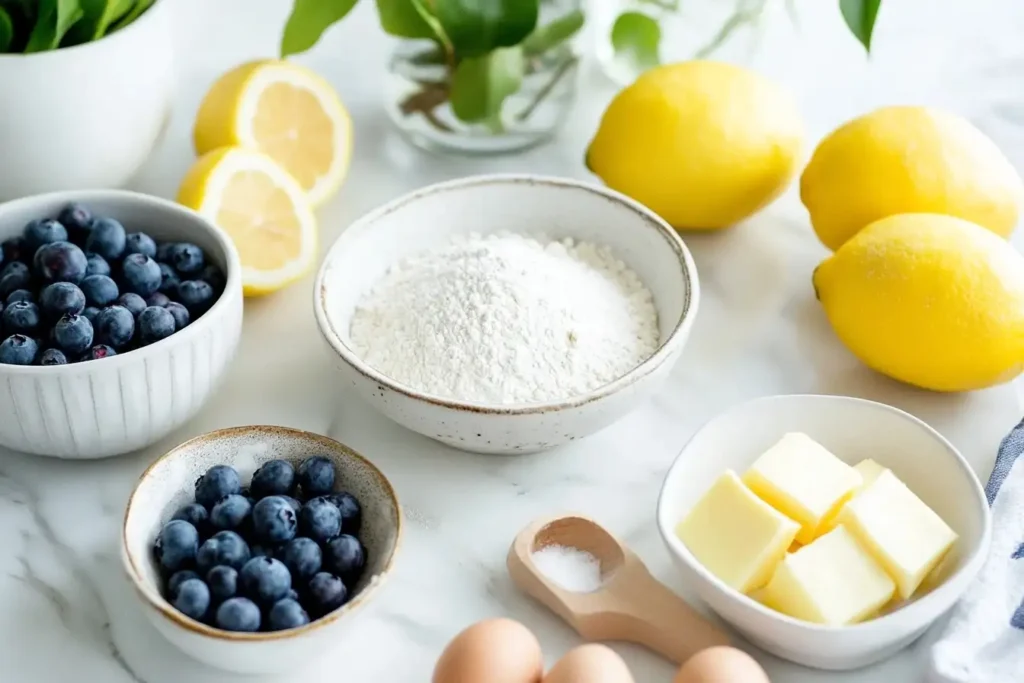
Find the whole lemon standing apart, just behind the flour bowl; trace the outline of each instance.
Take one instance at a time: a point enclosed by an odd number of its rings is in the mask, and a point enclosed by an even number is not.
[[[775,199],[800,160],[803,124],[788,94],[716,61],[653,69],[618,93],[587,167],[681,229],[726,227]]]

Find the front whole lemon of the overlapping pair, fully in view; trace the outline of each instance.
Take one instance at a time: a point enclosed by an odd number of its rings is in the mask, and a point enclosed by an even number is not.
[[[883,218],[822,261],[813,282],[843,343],[897,380],[969,391],[1024,369],[1024,256],[975,223]]]

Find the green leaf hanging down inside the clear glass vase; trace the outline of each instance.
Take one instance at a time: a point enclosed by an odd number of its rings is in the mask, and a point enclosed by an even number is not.
[[[500,121],[502,103],[519,90],[525,69],[519,46],[463,59],[452,77],[452,111],[467,123]]]

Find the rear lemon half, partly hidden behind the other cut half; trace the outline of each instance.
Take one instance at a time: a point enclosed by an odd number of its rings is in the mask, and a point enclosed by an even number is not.
[[[266,59],[242,65],[213,84],[194,139],[200,155],[234,145],[266,153],[316,207],[348,172],[352,122],[327,81],[290,61]]]

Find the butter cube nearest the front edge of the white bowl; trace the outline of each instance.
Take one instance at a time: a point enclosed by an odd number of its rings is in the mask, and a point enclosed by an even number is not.
[[[874,614],[895,593],[889,574],[839,526],[786,555],[759,597],[783,614],[844,626]]]

